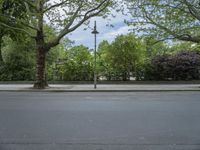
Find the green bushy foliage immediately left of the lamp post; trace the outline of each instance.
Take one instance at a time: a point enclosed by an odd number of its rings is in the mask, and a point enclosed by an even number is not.
[[[93,79],[93,59],[89,49],[83,45],[66,51],[63,62],[56,64],[63,80],[87,81]]]

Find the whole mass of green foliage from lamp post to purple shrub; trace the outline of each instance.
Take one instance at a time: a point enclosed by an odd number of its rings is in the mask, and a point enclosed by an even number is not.
[[[105,67],[104,76],[111,80],[130,80],[136,65],[144,61],[144,47],[133,34],[120,35],[110,45],[100,44],[101,66]],[[104,63],[106,62],[106,63]]]

